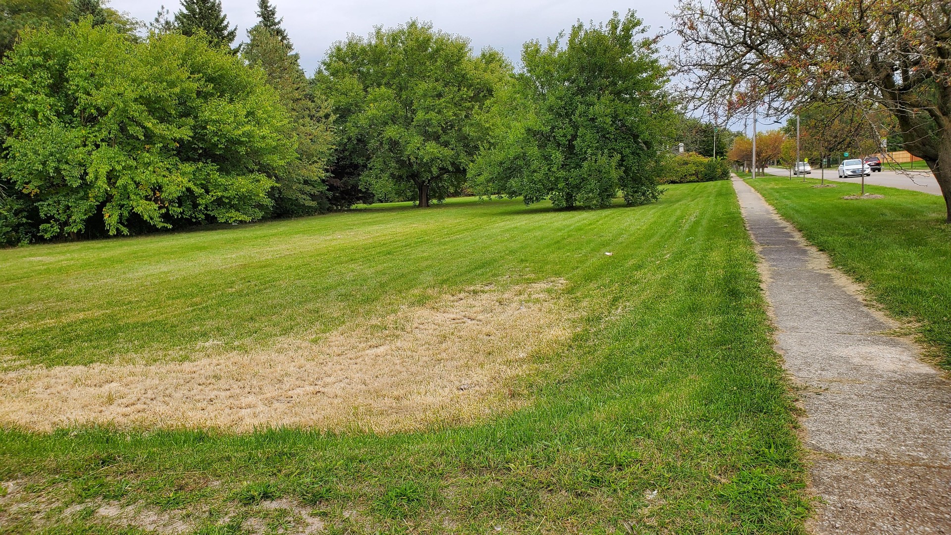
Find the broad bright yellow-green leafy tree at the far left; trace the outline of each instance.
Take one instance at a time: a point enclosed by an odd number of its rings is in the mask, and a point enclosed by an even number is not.
[[[297,159],[262,70],[89,19],[25,31],[0,64],[0,129],[6,241],[251,221]]]

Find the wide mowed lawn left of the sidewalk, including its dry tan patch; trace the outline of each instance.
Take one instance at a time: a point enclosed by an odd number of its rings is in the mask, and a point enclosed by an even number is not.
[[[728,182],[6,249],[0,300],[0,533],[797,533],[808,512]]]

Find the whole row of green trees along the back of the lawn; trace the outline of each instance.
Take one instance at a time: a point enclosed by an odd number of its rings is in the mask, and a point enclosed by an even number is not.
[[[632,13],[527,43],[518,72],[410,21],[335,44],[309,78],[258,7],[235,46],[220,0],[163,8],[147,35],[99,0],[7,0],[0,239],[426,207],[464,189],[566,208],[661,193],[675,116]]]

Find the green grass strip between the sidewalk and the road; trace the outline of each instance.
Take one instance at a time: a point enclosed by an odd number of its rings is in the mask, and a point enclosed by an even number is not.
[[[818,182],[749,181],[877,303],[916,324],[922,341],[951,366],[951,225],[943,199],[866,185],[866,193],[884,198],[850,201],[840,188],[811,188]]]

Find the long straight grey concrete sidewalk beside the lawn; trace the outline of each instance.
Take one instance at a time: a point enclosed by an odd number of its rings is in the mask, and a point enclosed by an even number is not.
[[[814,533],[951,533],[951,382],[859,288],[734,177],[776,350],[802,386]]]

